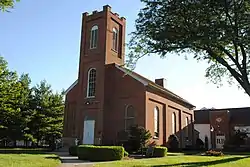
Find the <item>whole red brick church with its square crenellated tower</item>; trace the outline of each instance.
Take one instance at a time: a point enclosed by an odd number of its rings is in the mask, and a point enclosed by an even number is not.
[[[177,134],[192,143],[194,105],[170,92],[165,79],[150,81],[124,68],[126,19],[111,12],[83,13],[78,79],[66,90],[63,142],[111,144],[118,132],[140,125],[152,141]]]

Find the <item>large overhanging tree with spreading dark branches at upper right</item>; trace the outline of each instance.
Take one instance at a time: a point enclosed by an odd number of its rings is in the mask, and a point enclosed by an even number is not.
[[[194,53],[209,66],[206,77],[237,81],[250,96],[250,1],[141,0],[145,7],[129,42],[128,64],[145,55]]]

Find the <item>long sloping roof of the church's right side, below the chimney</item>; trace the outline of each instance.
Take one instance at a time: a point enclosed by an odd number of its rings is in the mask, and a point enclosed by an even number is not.
[[[172,98],[176,99],[176,100],[179,100],[187,105],[189,105],[191,108],[195,108],[195,106],[193,104],[191,104],[190,102],[188,102],[187,100],[183,99],[182,97],[176,95],[175,93],[169,91],[168,89],[156,84],[155,82],[141,76],[140,74],[134,72],[134,71],[131,71],[127,68],[124,68],[124,67],[121,67],[117,64],[115,64],[115,67],[120,69],[121,71],[123,71],[125,73],[125,75],[130,75],[131,77],[133,77],[134,79],[140,81],[142,84],[144,84],[144,86],[148,86],[148,87],[151,87],[153,89],[157,89],[159,91],[161,91],[162,93],[168,95],[168,96],[171,96]]]

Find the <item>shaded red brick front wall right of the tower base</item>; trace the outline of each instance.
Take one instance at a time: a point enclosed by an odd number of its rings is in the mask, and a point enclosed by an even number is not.
[[[125,129],[125,109],[133,105],[136,123],[145,126],[145,88],[140,82],[115,68],[106,67],[104,140],[114,141],[117,133]]]

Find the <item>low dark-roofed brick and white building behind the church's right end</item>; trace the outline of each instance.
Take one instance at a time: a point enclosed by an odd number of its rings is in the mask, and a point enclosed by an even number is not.
[[[196,137],[205,142],[207,136],[209,148],[223,149],[225,141],[238,130],[250,135],[250,107],[195,110],[194,118]]]

